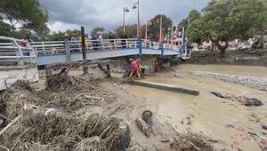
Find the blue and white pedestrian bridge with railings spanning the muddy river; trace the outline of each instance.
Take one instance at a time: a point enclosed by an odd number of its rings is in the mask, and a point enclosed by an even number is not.
[[[24,44],[23,44],[24,43]],[[0,36],[0,61],[36,63],[38,66],[83,60],[78,41],[33,42]],[[21,46],[23,44],[24,46]],[[189,59],[190,51],[173,44],[145,41],[140,38],[85,41],[86,60],[101,60],[132,55],[175,56]]]

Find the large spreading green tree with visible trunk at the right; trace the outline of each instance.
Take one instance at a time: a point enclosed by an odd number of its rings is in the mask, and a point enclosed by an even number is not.
[[[247,40],[266,29],[266,10],[266,0],[213,0],[203,10],[201,24],[192,23],[194,26],[188,31],[190,39],[208,38],[223,57],[231,40]]]

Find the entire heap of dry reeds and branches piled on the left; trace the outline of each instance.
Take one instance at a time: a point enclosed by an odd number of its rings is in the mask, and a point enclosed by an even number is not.
[[[130,131],[127,126],[121,128],[121,119],[75,114],[77,108],[102,100],[93,91],[95,87],[80,77],[64,74],[51,76],[45,91],[35,91],[27,82],[14,83],[0,96],[0,119],[4,121],[0,148],[118,151],[128,147]]]

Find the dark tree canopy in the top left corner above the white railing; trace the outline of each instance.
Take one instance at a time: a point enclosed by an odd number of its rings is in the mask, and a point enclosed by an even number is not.
[[[46,26],[48,12],[38,0],[0,1],[0,15],[9,20],[12,34],[18,27],[28,34],[40,37],[49,32]]]

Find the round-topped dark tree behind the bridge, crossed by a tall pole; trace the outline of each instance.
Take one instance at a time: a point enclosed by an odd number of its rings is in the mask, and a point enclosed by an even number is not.
[[[148,35],[151,37],[152,41],[158,41],[159,39],[160,17],[161,15],[158,14],[152,20],[150,20],[150,23],[148,26]],[[171,28],[172,25],[173,25],[173,21],[163,14],[162,15],[162,28],[163,28],[163,34],[165,36],[168,33],[168,28]]]

